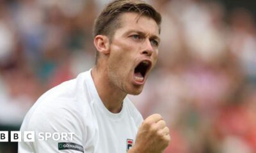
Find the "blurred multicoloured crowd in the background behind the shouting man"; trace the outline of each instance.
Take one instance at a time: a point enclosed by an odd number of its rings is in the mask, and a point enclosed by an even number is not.
[[[42,93],[92,68],[93,21],[108,2],[0,0],[0,131],[19,130]],[[143,117],[163,115],[166,153],[256,152],[255,17],[216,1],[148,3],[163,17],[159,59],[129,97]]]

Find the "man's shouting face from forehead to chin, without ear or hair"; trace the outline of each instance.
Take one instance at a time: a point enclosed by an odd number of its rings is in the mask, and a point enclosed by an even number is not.
[[[157,61],[159,27],[152,18],[138,13],[121,15],[110,44],[108,77],[127,94],[140,94],[149,71]]]

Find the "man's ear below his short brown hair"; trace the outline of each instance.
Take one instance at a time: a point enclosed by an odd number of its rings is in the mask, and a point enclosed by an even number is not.
[[[110,44],[107,36],[97,35],[95,36],[93,43],[100,53],[105,55],[109,54]]]

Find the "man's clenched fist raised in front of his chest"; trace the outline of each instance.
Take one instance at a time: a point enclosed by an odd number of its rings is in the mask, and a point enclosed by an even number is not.
[[[170,143],[169,128],[159,114],[150,115],[141,124],[136,143],[129,153],[162,153]]]

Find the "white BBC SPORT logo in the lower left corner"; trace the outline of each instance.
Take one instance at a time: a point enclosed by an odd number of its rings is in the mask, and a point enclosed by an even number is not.
[[[9,142],[9,136],[11,142],[35,142],[35,138],[39,141],[47,141],[52,139],[54,141],[58,140],[73,140],[75,133],[38,133],[35,135],[35,131],[0,131],[0,142]]]

